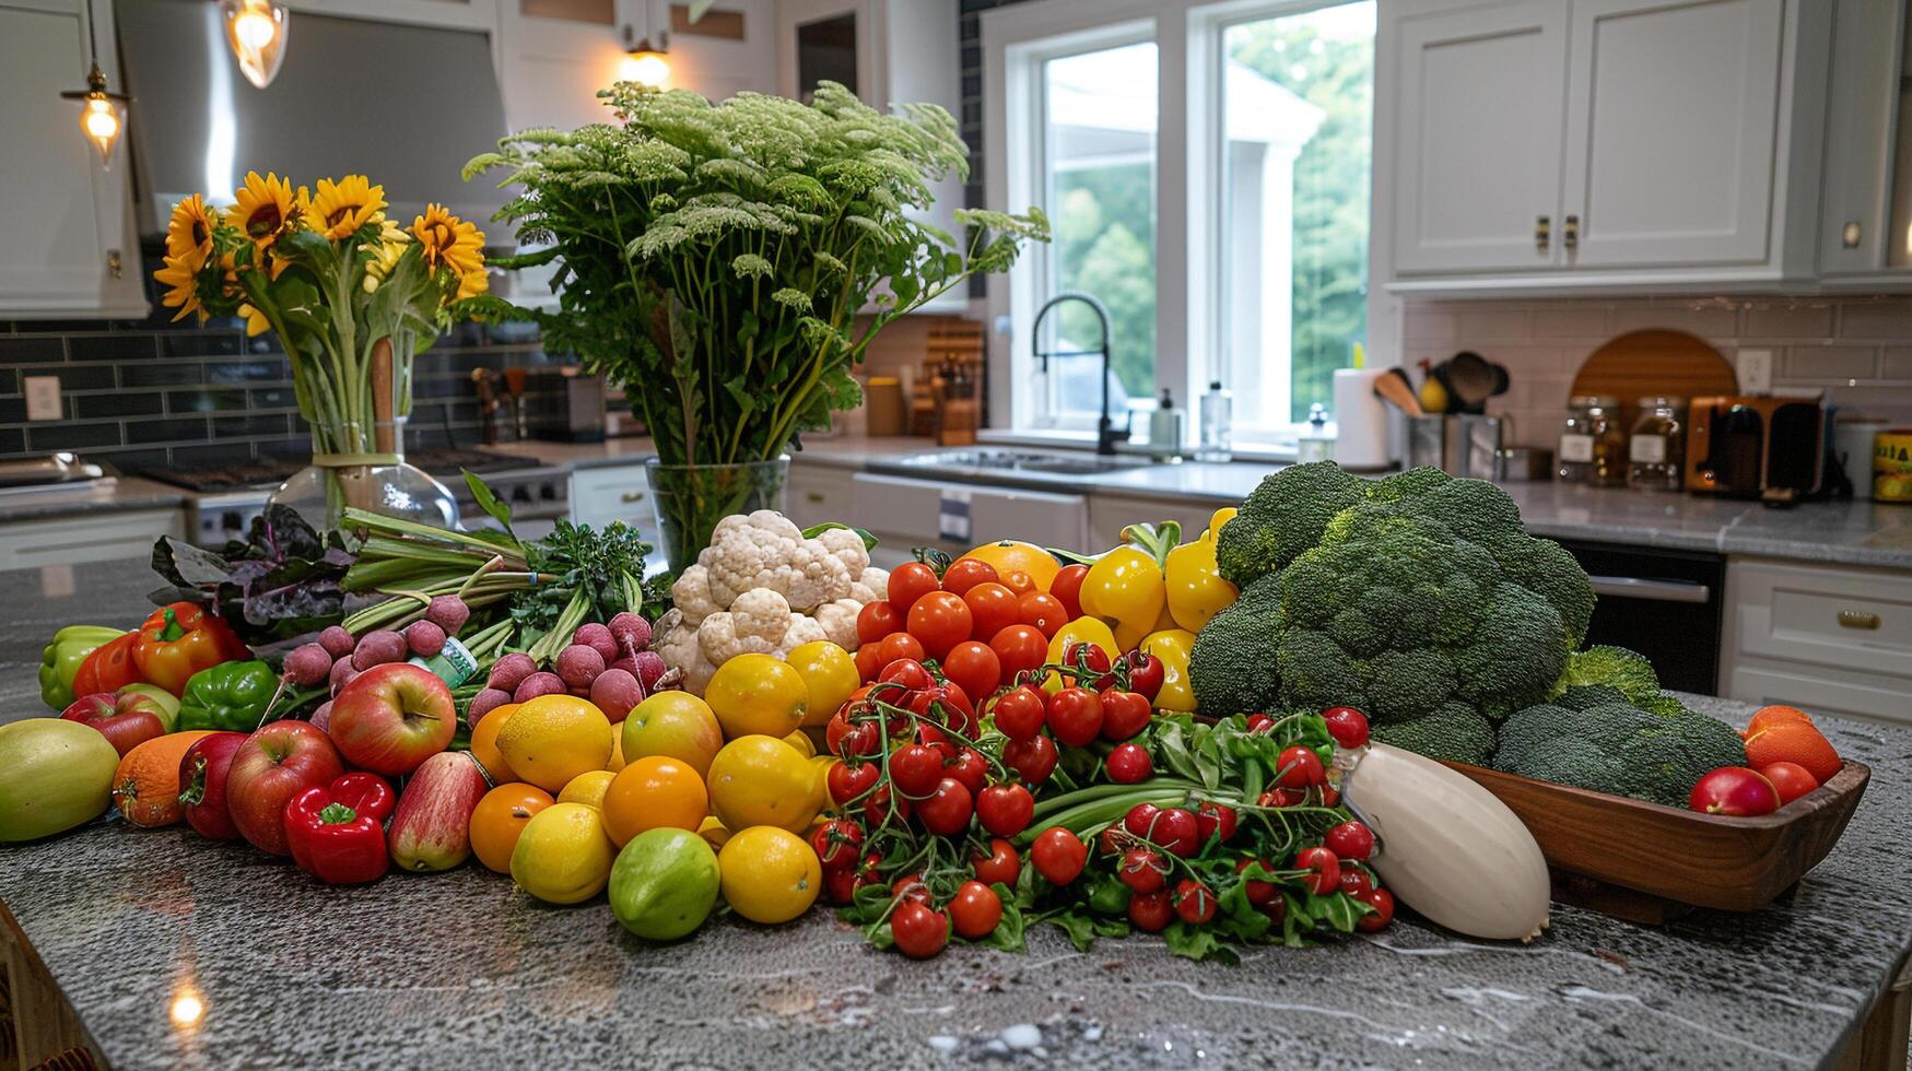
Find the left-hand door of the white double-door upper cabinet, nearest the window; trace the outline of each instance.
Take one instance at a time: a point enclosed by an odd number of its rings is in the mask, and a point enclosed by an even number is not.
[[[1398,23],[1394,266],[1522,270],[1554,262],[1566,4]]]

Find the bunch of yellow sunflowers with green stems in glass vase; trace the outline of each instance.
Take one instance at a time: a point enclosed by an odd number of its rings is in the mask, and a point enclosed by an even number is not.
[[[474,224],[428,205],[403,228],[386,208],[384,187],[361,174],[321,178],[314,193],[249,172],[231,208],[197,193],[172,208],[153,273],[174,319],[241,316],[247,337],[277,331],[314,465],[329,474],[329,520],[373,505],[352,474],[400,463],[413,356],[495,304]]]

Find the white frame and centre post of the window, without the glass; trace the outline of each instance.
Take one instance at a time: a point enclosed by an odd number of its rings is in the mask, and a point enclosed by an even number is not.
[[[1046,140],[1036,138],[1046,101],[1042,63],[1046,59],[1155,40],[1157,46],[1157,126],[1155,126],[1155,386],[1168,388],[1176,404],[1195,409],[1212,379],[1224,382],[1228,371],[1222,339],[1222,220],[1226,210],[1224,78],[1226,34],[1231,27],[1335,8],[1348,0],[1107,0],[1094,6],[1078,0],[1031,0],[983,11],[983,186],[992,207],[1042,203],[1040,176],[1046,166]],[[1140,31],[1149,27],[1149,31]],[[1140,33],[1138,33],[1140,31]],[[1375,124],[1369,149],[1369,195],[1380,197],[1377,161],[1386,136],[1379,122],[1382,86],[1382,40],[1375,36]],[[1010,145],[1034,145],[1011,159]],[[1369,222],[1367,352],[1392,354],[1398,339],[1398,302],[1373,285],[1379,237]],[[1021,384],[1032,381],[1034,365],[1027,327],[1046,293],[1050,258],[1025,256],[1013,270],[989,279],[985,310],[992,325],[989,339],[989,404],[994,438],[1050,438],[1055,442],[1094,442],[1094,430],[1071,423],[1034,423],[1036,400]],[[1185,448],[1193,446],[1195,421],[1185,421]],[[1237,425],[1239,453],[1281,453],[1293,449],[1302,423]]]

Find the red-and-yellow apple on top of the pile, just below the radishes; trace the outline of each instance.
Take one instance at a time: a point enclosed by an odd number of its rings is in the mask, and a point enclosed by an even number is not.
[[[386,662],[352,677],[325,721],[338,752],[358,769],[405,776],[444,752],[459,727],[451,688],[423,666]]]

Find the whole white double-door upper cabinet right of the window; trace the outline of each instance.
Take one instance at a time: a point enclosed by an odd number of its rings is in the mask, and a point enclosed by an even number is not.
[[[1384,8],[1400,293],[1811,281],[1832,19],[1807,0]]]

